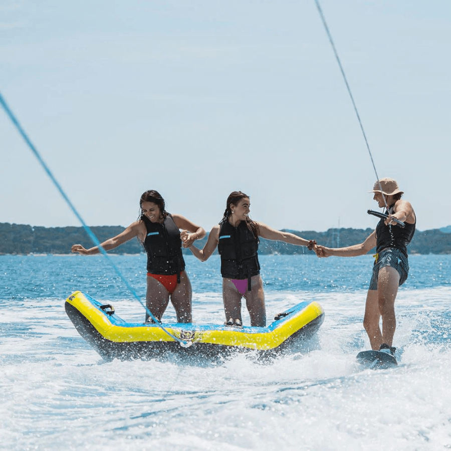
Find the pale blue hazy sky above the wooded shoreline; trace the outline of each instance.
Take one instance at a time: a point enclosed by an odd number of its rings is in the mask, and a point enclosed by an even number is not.
[[[323,0],[380,177],[451,224],[451,3]],[[375,173],[315,2],[9,1],[0,92],[89,225],[157,189],[209,230],[374,228]],[[0,222],[80,225],[0,111]],[[309,237],[306,237],[309,238]]]

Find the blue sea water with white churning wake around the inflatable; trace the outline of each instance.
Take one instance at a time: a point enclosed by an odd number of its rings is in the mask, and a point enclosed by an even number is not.
[[[139,296],[145,257],[111,256]],[[362,369],[372,259],[262,256],[268,318],[302,300],[311,346],[260,362],[104,362],[64,310],[75,290],[124,319],[141,305],[102,256],[0,256],[0,449],[451,449],[451,256],[410,256],[396,301],[399,366]],[[223,322],[219,262],[186,258],[194,322]],[[175,318],[171,306],[163,320]],[[249,317],[244,314],[245,323]]]

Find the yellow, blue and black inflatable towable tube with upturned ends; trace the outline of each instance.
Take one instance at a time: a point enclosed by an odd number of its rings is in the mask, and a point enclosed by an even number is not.
[[[324,310],[317,302],[301,302],[277,315],[267,327],[164,323],[174,337],[190,343],[182,347],[159,325],[128,323],[116,315],[113,306],[81,291],[67,298],[65,308],[80,335],[105,360],[147,360],[167,352],[218,356],[256,350],[277,354],[293,342],[310,338],[324,321]]]

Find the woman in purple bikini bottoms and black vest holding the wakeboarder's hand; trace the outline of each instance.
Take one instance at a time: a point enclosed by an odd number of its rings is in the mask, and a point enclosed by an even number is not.
[[[241,299],[251,318],[251,326],[266,326],[265,294],[260,277],[258,259],[259,237],[284,241],[313,249],[315,242],[304,240],[288,232],[271,229],[268,225],[251,220],[249,196],[241,191],[232,192],[226,203],[224,215],[210,232],[202,250],[190,246],[191,252],[202,262],[216,247],[221,257],[222,299],[225,325],[241,327]]]

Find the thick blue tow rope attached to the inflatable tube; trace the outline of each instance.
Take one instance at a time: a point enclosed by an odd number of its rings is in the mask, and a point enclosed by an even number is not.
[[[7,105],[5,99],[3,98],[2,94],[0,93],[0,103],[2,104],[3,109],[5,110],[5,112],[7,113],[7,115],[9,116],[9,118],[11,119],[11,121],[13,122],[13,124],[16,126],[16,128],[18,129],[19,133],[22,135],[22,137],[24,138],[25,142],[27,143],[28,147],[30,147],[31,151],[35,154],[36,158],[38,159],[39,163],[41,164],[41,166],[44,168],[44,170],[47,172],[47,175],[50,177],[50,179],[53,181],[54,185],[57,187],[58,191],[60,192],[60,194],[63,196],[64,200],[66,201],[66,203],[69,205],[69,207],[71,208],[71,210],[73,211],[73,213],[75,214],[75,216],[77,216],[78,220],[81,222],[81,224],[83,225],[83,229],[85,229],[86,233],[88,234],[89,238],[91,239],[91,241],[99,248],[100,253],[107,259],[107,261],[109,262],[109,264],[113,267],[113,269],[116,271],[117,275],[119,276],[119,278],[125,283],[125,285],[127,286],[127,288],[130,290],[130,292],[133,294],[133,296],[137,299],[137,301],[144,307],[146,313],[153,319],[153,321],[155,321],[156,324],[158,324],[159,327],[161,327],[161,329],[166,332],[166,334],[168,334],[170,337],[172,337],[175,341],[178,341],[180,343],[181,346],[183,347],[188,347],[190,344],[180,340],[179,338],[175,337],[174,335],[172,335],[169,331],[167,331],[161,324],[160,322],[152,315],[152,312],[150,312],[150,310],[147,308],[147,306],[141,301],[141,299],[139,298],[139,296],[137,295],[137,293],[135,292],[135,290],[133,289],[133,287],[128,283],[128,281],[125,279],[125,277],[122,275],[121,271],[119,270],[119,268],[114,264],[114,262],[111,260],[110,256],[108,255],[108,253],[105,251],[105,249],[102,248],[100,241],[98,240],[98,238],[94,235],[94,233],[92,232],[92,230],[88,227],[88,225],[85,223],[85,221],[83,220],[83,218],[81,217],[80,213],[77,211],[77,209],[75,208],[75,206],[73,205],[73,203],[71,202],[71,200],[69,199],[69,197],[67,196],[67,194],[64,192],[63,188],[61,187],[61,185],[58,183],[58,180],[55,178],[55,176],[52,174],[52,171],[49,169],[49,167],[47,166],[47,164],[44,162],[44,160],[42,159],[41,155],[39,154],[38,150],[36,149],[36,147],[33,145],[33,143],[30,141],[30,138],[27,136],[27,133],[25,133],[24,129],[21,127],[21,125],[19,124],[19,121],[17,120],[16,116],[13,114],[13,112],[11,111],[11,109],[9,108],[9,106]]]

